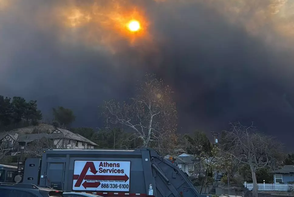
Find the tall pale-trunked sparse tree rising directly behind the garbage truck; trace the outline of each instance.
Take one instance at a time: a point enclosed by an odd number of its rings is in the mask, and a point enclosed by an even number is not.
[[[143,147],[153,147],[161,153],[173,150],[177,139],[177,111],[171,88],[154,74],[146,74],[137,92],[128,102],[105,102],[106,122],[132,129]]]

